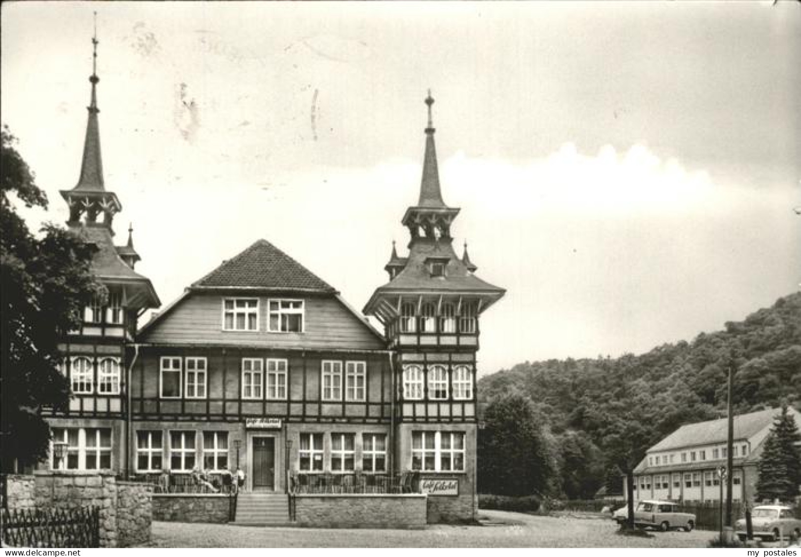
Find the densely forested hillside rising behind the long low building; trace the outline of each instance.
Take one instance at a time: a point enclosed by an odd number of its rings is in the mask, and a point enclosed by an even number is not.
[[[523,394],[551,433],[583,432],[598,444],[603,416],[626,404],[647,404],[654,437],[661,438],[682,423],[721,415],[730,363],[737,413],[779,406],[783,398],[801,407],[801,293],[726,323],[722,331],[639,356],[518,364],[481,378],[478,395],[492,402]]]

